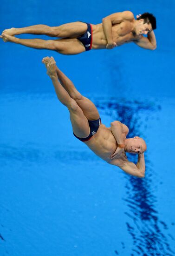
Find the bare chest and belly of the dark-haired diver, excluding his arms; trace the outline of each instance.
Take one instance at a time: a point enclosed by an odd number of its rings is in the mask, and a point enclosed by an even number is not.
[[[107,41],[104,35],[103,24],[93,25],[93,38],[92,49],[104,49],[106,48]],[[113,41],[117,43],[117,46],[121,46],[125,43],[129,43],[133,40],[138,40],[141,36],[135,35],[132,32],[133,22],[125,20],[119,24],[112,25],[112,37]]]

